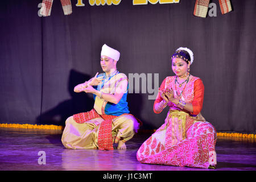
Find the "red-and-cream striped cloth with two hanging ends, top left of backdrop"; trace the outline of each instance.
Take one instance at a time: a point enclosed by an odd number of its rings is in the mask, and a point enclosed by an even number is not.
[[[71,0],[60,0],[60,2],[64,11],[64,15],[71,14],[72,13]],[[42,6],[40,9],[40,14],[43,16],[51,15],[52,3],[53,3],[53,0],[43,0]]]

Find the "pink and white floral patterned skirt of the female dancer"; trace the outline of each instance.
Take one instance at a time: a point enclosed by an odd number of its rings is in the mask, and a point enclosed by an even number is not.
[[[216,139],[209,122],[192,122],[187,113],[176,112],[142,144],[137,159],[147,164],[209,168],[216,166]]]

